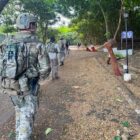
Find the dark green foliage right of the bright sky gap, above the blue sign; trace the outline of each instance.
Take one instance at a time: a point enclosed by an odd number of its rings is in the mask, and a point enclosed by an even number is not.
[[[62,3],[69,7],[73,7],[75,11],[74,26],[78,27],[76,31],[82,34],[84,42],[103,42],[106,38],[114,36],[118,27],[119,14],[121,9],[121,0],[60,0]],[[139,6],[139,0],[124,0],[123,6],[129,11],[131,15],[128,19],[128,28],[134,31],[134,34],[139,36],[139,20],[140,14],[134,11],[135,6]],[[105,22],[106,19],[106,22]],[[108,27],[108,28],[107,28]],[[120,32],[124,29],[124,22],[119,29]]]

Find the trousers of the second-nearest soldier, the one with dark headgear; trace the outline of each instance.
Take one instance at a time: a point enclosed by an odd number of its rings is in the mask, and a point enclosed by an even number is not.
[[[51,59],[51,76],[52,79],[58,78],[58,59]]]

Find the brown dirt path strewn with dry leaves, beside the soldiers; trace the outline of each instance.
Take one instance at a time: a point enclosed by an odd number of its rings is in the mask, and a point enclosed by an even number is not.
[[[140,116],[99,59],[98,53],[71,51],[60,67],[60,79],[42,86],[34,140],[112,140],[123,129],[122,122],[130,124],[131,138],[138,140]],[[11,118],[0,128],[1,140],[8,139],[13,122]],[[53,131],[46,136],[47,128]]]

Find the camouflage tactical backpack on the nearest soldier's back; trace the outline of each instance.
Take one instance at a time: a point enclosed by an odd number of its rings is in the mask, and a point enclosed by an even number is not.
[[[2,77],[18,79],[27,70],[27,47],[24,43],[10,43],[3,52]]]

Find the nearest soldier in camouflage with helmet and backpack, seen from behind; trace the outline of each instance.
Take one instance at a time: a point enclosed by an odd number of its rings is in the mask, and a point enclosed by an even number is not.
[[[1,88],[15,106],[16,140],[31,140],[39,79],[51,71],[46,47],[35,35],[36,22],[32,14],[19,15],[19,32],[2,44],[0,53]]]

